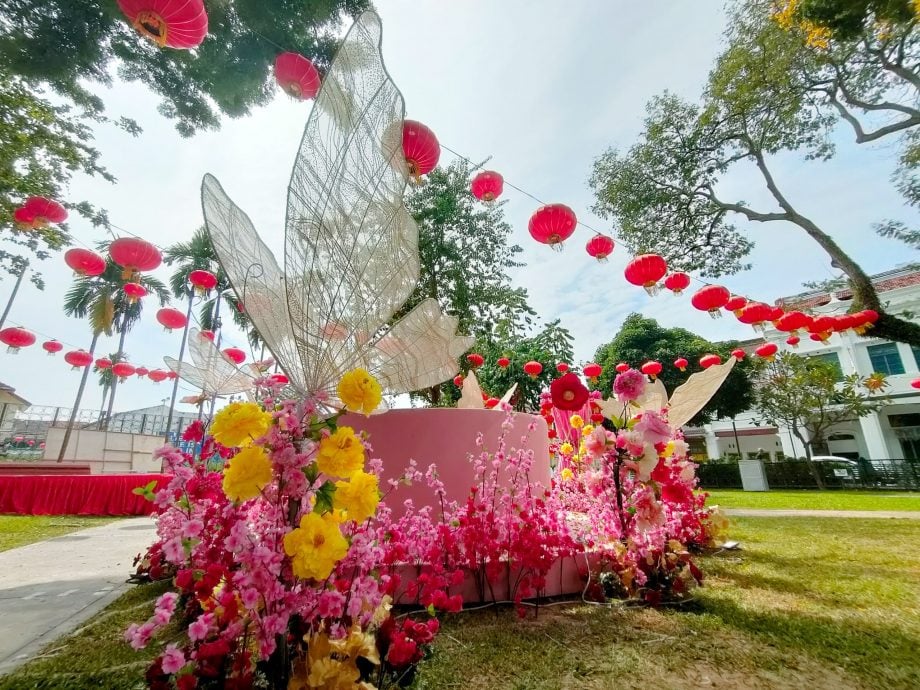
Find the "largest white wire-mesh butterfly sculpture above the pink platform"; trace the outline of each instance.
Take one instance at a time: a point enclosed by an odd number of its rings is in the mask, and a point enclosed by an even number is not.
[[[201,186],[208,233],[246,313],[294,390],[330,409],[355,367],[405,393],[449,379],[472,344],[433,299],[392,322],[418,283],[419,252],[403,202],[405,106],[381,37],[379,17],[364,13],[325,77],[288,185],[283,269],[217,179]]]

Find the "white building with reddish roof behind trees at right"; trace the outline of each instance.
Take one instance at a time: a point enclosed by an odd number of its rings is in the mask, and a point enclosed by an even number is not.
[[[872,282],[886,311],[920,322],[920,270],[887,271],[872,276]],[[851,291],[841,289],[784,297],[776,304],[816,315],[842,314],[850,308],[851,299]],[[787,333],[768,328],[764,337],[781,350],[792,350],[786,344]],[[753,351],[762,342],[758,338],[744,343],[744,347]],[[877,413],[831,429],[827,438],[830,454],[870,460],[920,458],[920,390],[910,386],[920,376],[920,348],[847,332],[831,336],[826,343],[815,342],[806,334],[795,351],[828,360],[838,365],[844,375],[881,372],[887,377],[888,404]],[[788,429],[772,427],[754,412],[738,415],[734,421],[716,420],[702,429],[688,428],[685,433],[691,452],[710,458],[741,455],[779,459],[805,455],[802,444]]]

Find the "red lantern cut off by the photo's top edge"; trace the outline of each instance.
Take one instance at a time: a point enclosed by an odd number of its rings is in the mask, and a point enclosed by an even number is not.
[[[118,0],[131,25],[161,48],[196,48],[208,35],[203,0]]]

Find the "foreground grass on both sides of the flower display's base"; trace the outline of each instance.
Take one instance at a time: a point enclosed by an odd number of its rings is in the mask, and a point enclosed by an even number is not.
[[[920,687],[920,522],[739,518],[743,550],[703,558],[684,610],[578,603],[519,619],[508,609],[445,621],[417,690],[434,688]],[[163,585],[131,590],[14,688],[128,688],[156,649],[122,640]]]

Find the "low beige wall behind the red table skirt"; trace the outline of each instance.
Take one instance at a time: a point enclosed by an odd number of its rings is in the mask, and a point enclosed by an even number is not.
[[[48,429],[45,460],[57,460],[64,440],[64,429]],[[153,451],[164,443],[162,436],[120,434],[113,431],[74,429],[67,444],[64,462],[89,465],[93,474],[159,472],[160,461]]]

